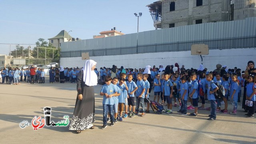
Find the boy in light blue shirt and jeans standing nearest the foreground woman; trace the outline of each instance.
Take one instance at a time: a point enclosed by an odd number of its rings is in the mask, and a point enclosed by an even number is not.
[[[103,126],[101,129],[105,129],[107,127],[107,109],[110,113],[111,124],[110,126],[114,126],[114,114],[113,114],[113,106],[114,106],[114,97],[117,96],[117,88],[114,84],[111,83],[112,78],[110,76],[106,76],[104,79],[104,84],[100,90],[100,96],[103,96]]]

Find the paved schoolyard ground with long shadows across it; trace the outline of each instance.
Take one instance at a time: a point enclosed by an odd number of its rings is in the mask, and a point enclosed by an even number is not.
[[[46,106],[52,108],[51,120],[55,122],[64,120],[66,115],[72,118],[74,111],[76,84],[50,84],[48,79],[45,84],[0,84],[0,144],[256,144],[256,118],[246,118],[240,105],[237,115],[217,113],[214,121],[207,120],[210,111],[206,110],[199,110],[197,117],[191,117],[177,114],[177,107],[173,107],[173,114],[155,114],[150,109],[145,117],[124,118],[102,130],[100,85],[95,86],[94,130],[80,134],[68,130],[68,126],[34,130],[32,119],[44,118]],[[228,110],[232,108],[229,104]],[[20,128],[23,121],[30,125]]]

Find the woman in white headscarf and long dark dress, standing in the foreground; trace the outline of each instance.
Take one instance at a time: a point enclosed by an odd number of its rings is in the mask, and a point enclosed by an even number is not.
[[[77,76],[77,98],[69,130],[76,130],[79,134],[88,128],[94,129],[95,122],[94,87],[96,86],[97,74],[94,72],[96,62],[86,60],[83,69]]]

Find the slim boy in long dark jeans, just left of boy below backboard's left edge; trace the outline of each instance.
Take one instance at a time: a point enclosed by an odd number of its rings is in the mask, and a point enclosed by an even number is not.
[[[180,96],[181,96],[181,107],[180,110],[177,111],[180,115],[187,115],[187,102],[188,102],[188,84],[186,83],[186,76],[182,76],[180,78]]]

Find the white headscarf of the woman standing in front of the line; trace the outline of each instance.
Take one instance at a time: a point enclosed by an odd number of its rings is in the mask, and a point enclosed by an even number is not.
[[[84,72],[83,80],[87,86],[96,86],[98,83],[97,74],[92,70],[92,67],[95,66],[97,62],[94,60],[86,60],[84,64],[84,68],[82,69]]]

